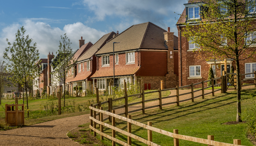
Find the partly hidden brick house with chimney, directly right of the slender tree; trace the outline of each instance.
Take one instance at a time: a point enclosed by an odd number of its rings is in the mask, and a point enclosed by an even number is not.
[[[79,49],[74,52],[74,61],[77,61],[78,58],[81,55],[83,55],[91,46],[93,46],[93,43],[88,42],[88,43],[84,44],[84,39],[83,39],[83,37],[81,37],[81,39],[79,40]],[[73,63],[73,62],[71,62],[71,63]],[[66,82],[65,82],[65,90],[70,92],[70,93],[72,93],[71,91],[72,91],[72,88],[73,88],[71,81],[74,80],[77,73],[78,73],[77,72],[77,66],[76,66],[76,64],[73,64],[71,69],[68,72],[68,77],[67,77]],[[64,84],[63,84],[63,86],[64,86]]]

